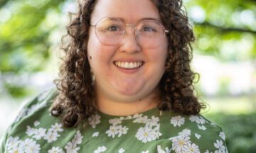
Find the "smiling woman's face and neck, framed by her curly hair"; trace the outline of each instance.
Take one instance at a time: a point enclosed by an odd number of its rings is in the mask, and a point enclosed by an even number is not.
[[[151,1],[113,2],[101,1],[92,12],[90,23],[97,26],[90,29],[87,55],[92,57],[89,62],[100,111],[130,115],[154,108],[161,101],[156,88],[165,70],[167,38]],[[117,30],[106,28],[105,32],[102,27]],[[110,43],[112,40],[115,43]],[[132,63],[140,67],[127,68]]]

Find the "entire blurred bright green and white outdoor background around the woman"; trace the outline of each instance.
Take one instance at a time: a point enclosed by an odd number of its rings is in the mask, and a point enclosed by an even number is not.
[[[184,0],[196,34],[193,63],[203,110],[230,152],[256,152],[256,1]],[[71,0],[0,0],[0,137],[22,107],[54,88]]]

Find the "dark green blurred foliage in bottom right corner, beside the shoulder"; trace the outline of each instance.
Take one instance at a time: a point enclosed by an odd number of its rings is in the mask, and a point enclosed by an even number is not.
[[[228,151],[232,153],[256,152],[256,114],[212,114],[208,118],[223,128],[227,137]]]

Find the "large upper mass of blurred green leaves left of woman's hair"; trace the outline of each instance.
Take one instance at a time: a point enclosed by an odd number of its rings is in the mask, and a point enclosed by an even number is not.
[[[4,3],[4,2],[2,2]],[[48,40],[55,26],[46,19],[50,11],[60,13],[63,0],[5,1],[1,5],[0,70],[4,72],[37,72],[50,56]],[[56,21],[50,21],[56,22]]]

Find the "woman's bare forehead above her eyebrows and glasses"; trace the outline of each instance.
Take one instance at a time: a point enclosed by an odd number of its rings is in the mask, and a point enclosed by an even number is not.
[[[98,0],[91,16],[91,23],[104,17],[122,18],[127,23],[136,23],[142,18],[156,18],[159,11],[151,0]]]

